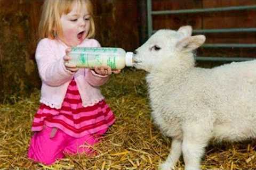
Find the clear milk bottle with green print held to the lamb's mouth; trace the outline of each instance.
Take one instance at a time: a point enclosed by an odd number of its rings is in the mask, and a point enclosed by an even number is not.
[[[126,53],[122,48],[73,47],[68,55],[71,57],[68,63],[80,68],[109,66],[112,70],[119,70],[133,65],[133,53]]]

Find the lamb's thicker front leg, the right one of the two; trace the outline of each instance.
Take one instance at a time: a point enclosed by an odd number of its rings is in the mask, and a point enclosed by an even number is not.
[[[183,130],[182,154],[185,170],[199,170],[205,147],[210,140],[210,131],[199,124]]]

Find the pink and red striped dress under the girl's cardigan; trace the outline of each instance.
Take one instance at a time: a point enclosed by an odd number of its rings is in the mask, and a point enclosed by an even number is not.
[[[76,81],[73,79],[69,86],[60,109],[41,104],[34,116],[31,130],[41,131],[44,126],[55,127],[71,137],[81,138],[86,134],[105,133],[115,122],[115,116],[105,100],[83,107]]]

